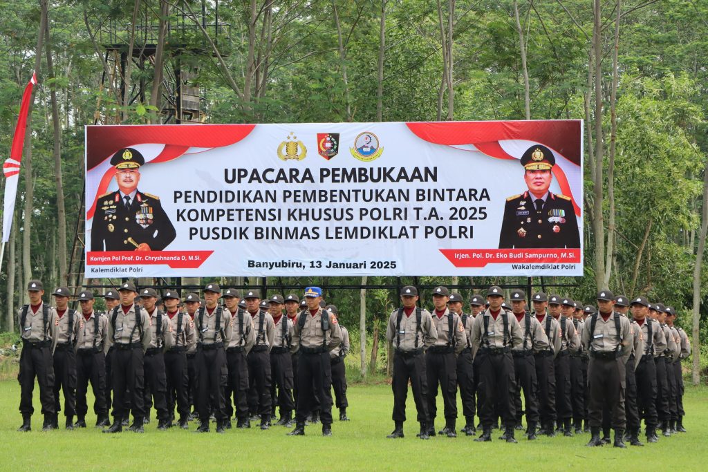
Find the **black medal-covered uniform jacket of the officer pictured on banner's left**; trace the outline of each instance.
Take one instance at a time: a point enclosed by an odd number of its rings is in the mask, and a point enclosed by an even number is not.
[[[137,244],[147,243],[152,251],[162,251],[176,236],[159,197],[137,191],[129,208],[118,191],[98,197],[91,224],[91,251],[135,251],[128,238]]]

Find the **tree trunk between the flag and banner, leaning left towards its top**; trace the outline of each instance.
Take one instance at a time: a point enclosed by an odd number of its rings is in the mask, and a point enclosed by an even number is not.
[[[47,54],[47,75],[55,79],[52,61],[52,41],[49,21],[45,28],[45,53]],[[64,182],[62,179],[62,131],[59,123],[59,105],[57,104],[57,86],[50,87],[52,101],[52,130],[54,132],[54,179],[57,183],[57,258],[59,259],[59,284],[67,284],[67,209],[64,207]]]

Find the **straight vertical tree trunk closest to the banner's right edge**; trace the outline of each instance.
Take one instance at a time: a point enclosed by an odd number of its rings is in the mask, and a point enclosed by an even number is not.
[[[597,289],[605,289],[605,218],[603,216],[603,54],[602,54],[602,6],[595,0],[595,181],[593,202],[593,231],[595,232],[595,284]]]

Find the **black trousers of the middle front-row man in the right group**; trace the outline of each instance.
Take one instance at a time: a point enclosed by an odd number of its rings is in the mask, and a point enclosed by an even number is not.
[[[514,427],[516,408],[514,391],[516,389],[514,359],[510,352],[493,354],[481,348],[476,357],[479,362],[479,400],[482,403],[481,422],[485,428],[496,421],[494,404],[498,401],[501,418],[506,427]]]

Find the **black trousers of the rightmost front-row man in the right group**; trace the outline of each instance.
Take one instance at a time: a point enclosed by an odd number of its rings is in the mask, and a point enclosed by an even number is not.
[[[590,381],[590,427],[603,426],[603,408],[610,408],[610,425],[624,430],[627,417],[624,412],[626,374],[621,359],[591,358],[588,365]]]

